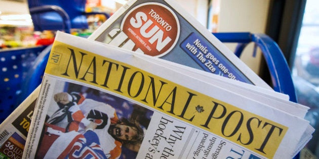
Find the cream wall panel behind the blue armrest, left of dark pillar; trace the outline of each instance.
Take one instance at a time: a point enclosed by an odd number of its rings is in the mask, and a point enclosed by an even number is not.
[[[214,0],[213,0],[214,1]],[[270,0],[219,0],[219,32],[265,33]],[[234,45],[226,44],[231,50]],[[259,74],[261,52],[252,57],[253,44],[244,50],[241,59]]]

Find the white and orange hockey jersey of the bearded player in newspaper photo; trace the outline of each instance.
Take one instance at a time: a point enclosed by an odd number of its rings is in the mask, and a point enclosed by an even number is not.
[[[106,114],[108,119],[93,119],[92,118],[92,111],[94,113],[103,113]],[[109,133],[108,128],[110,124],[115,124],[118,121],[115,109],[111,107],[111,105],[99,102],[96,100],[92,100],[89,98],[84,98],[83,96],[81,99],[76,103],[73,102],[72,106],[68,109],[69,113],[71,114],[72,122],[69,123],[68,131],[69,132],[77,132],[79,134],[84,134],[86,126],[90,124],[90,122],[95,122],[97,125],[100,125],[103,122],[103,128],[93,130],[94,133],[99,137],[99,145],[103,149],[104,154],[107,158],[118,158],[122,152],[122,143],[116,141]],[[89,114],[91,113],[90,117],[88,118]],[[98,115],[97,115],[98,116]],[[66,134],[66,133],[65,133]],[[65,134],[63,134],[65,136]],[[72,138],[73,136],[65,136],[59,139],[63,141],[63,138]],[[75,136],[74,136],[75,137]],[[75,140],[75,139],[74,139]],[[78,139],[76,139],[78,140]],[[72,140],[73,141],[73,140]],[[71,142],[70,142],[71,143]],[[71,147],[68,147],[71,148]],[[69,151],[71,149],[61,149],[63,151]],[[49,148],[48,152],[50,151],[51,147]],[[55,149],[55,151],[57,151]],[[62,152],[61,152],[62,153]]]

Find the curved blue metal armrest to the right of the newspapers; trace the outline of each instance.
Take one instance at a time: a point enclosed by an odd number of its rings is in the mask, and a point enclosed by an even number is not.
[[[273,89],[288,94],[290,101],[297,102],[295,86],[291,72],[280,47],[265,34],[252,34],[249,32],[213,33],[221,42],[238,43],[234,54],[240,57],[244,48],[254,42],[260,49],[267,63]]]

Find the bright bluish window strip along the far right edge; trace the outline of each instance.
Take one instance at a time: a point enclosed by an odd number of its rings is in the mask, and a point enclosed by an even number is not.
[[[306,119],[316,129],[307,148],[319,157],[319,1],[307,0],[292,76],[298,102],[310,107]]]

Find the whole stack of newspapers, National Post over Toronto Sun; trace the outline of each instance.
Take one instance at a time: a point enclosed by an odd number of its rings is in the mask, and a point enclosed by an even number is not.
[[[172,0],[132,0],[89,38],[58,32],[1,158],[292,158],[308,108]]]

